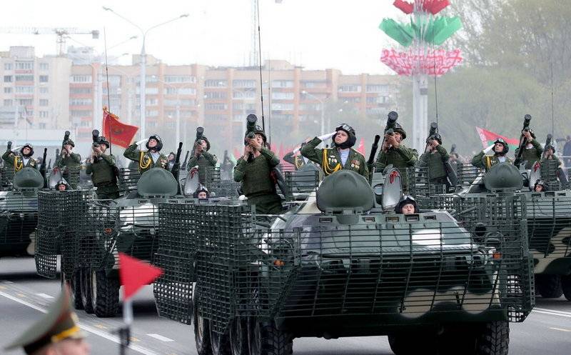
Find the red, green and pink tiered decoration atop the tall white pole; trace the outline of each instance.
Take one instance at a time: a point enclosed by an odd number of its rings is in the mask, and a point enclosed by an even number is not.
[[[405,47],[405,51],[383,49],[380,61],[403,76],[441,76],[462,62],[460,49],[435,49],[462,28],[458,16],[436,16],[450,5],[448,0],[395,0],[393,5],[413,15],[410,22],[384,19],[379,28]]]

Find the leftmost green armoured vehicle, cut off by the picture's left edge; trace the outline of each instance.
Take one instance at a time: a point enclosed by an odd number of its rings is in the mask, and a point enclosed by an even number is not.
[[[38,169],[17,171],[9,191],[0,191],[0,256],[34,255],[39,189],[44,176]]]

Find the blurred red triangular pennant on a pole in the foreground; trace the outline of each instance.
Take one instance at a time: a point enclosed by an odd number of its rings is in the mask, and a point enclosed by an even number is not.
[[[119,253],[119,279],[123,287],[123,300],[136,294],[142,286],[155,281],[163,270],[139,259]]]

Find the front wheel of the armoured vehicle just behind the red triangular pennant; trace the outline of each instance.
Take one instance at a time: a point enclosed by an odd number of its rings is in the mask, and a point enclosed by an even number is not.
[[[91,304],[101,318],[113,317],[119,311],[119,280],[107,277],[105,270],[91,270]]]

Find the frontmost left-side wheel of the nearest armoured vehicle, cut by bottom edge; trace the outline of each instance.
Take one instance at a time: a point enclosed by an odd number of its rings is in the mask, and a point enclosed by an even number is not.
[[[248,320],[248,350],[250,355],[291,355],[293,338],[273,322],[263,323],[251,317]]]

